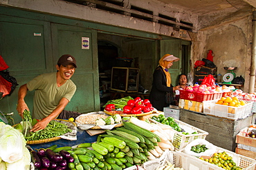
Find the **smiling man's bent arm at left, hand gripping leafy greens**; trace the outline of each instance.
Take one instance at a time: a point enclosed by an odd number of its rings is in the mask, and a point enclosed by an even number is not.
[[[18,92],[18,103],[17,103],[17,111],[19,113],[19,116],[21,116],[21,118],[23,118],[23,112],[25,109],[28,109],[28,105],[26,104],[24,98],[26,96],[28,92],[28,87],[27,85],[21,85],[21,87],[19,87],[19,92]]]

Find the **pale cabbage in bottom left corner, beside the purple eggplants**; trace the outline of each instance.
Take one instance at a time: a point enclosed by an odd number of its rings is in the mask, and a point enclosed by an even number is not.
[[[23,147],[22,158],[16,162],[8,163],[6,162],[6,170],[29,170],[30,169],[31,156],[30,152],[26,147]]]

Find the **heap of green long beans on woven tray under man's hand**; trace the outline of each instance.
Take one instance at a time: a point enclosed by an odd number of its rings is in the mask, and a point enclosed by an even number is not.
[[[63,123],[59,123],[55,120],[51,120],[51,122],[48,123],[46,128],[33,132],[30,136],[25,137],[25,139],[26,140],[42,140],[42,139],[61,136],[63,134],[66,134],[67,132],[71,132],[71,129],[69,129]]]

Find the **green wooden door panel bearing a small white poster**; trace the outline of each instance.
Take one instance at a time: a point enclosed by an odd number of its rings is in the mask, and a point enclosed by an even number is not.
[[[71,54],[77,69],[71,78],[77,91],[66,110],[89,112],[100,110],[96,32],[68,25],[52,24],[53,64],[62,54]]]

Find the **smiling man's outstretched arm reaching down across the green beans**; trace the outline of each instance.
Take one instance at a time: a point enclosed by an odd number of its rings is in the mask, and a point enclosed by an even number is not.
[[[38,130],[46,128],[46,126],[48,125],[48,123],[51,122],[51,120],[53,120],[53,119],[57,118],[57,116],[59,116],[59,114],[66,107],[66,105],[68,105],[68,102],[69,102],[68,99],[62,98],[60,100],[59,105],[57,105],[57,107],[53,110],[53,112],[51,114],[49,114],[46,118],[40,120],[37,124],[35,124],[33,129],[31,129],[30,131],[38,131]]]

